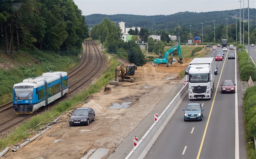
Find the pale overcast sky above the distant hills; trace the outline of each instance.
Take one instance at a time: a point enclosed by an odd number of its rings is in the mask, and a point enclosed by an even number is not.
[[[74,0],[82,15],[132,14],[141,16],[171,15],[178,12],[226,11],[248,7],[248,0]],[[249,0],[256,7],[256,0]]]

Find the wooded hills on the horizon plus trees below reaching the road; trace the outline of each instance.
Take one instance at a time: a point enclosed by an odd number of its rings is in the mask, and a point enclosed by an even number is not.
[[[239,41],[240,24],[239,15],[240,10],[230,11],[211,11],[211,12],[179,12],[172,15],[156,15],[156,16],[139,16],[139,15],[102,15],[92,14],[85,16],[86,24],[89,28],[95,24],[101,23],[104,18],[114,21],[116,25],[118,22],[125,22],[125,27],[141,27],[149,31],[149,35],[161,35],[165,32],[168,35],[180,36],[181,43],[187,43],[187,40],[192,37],[201,37],[203,34],[203,42],[220,43],[221,39],[228,36],[228,42]],[[241,10],[241,20],[245,17],[245,21],[241,21],[241,30],[243,37],[243,29],[245,28],[245,44],[248,37],[248,8],[245,8],[245,15],[243,9]],[[250,8],[250,39],[251,43],[256,43],[256,9]],[[228,19],[228,20],[227,20]],[[202,24],[203,23],[203,24]],[[190,28],[191,25],[191,28]],[[227,27],[228,26],[228,27]],[[215,31],[214,31],[215,30]],[[190,35],[191,31],[191,35]],[[203,33],[202,33],[203,31]],[[228,31],[228,32],[227,32]],[[214,34],[215,32],[215,34]],[[215,38],[214,38],[215,35]],[[226,36],[227,35],[227,36]],[[165,36],[165,35],[164,35]]]

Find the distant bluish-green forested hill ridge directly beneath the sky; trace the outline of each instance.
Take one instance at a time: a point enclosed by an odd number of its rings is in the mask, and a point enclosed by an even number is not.
[[[245,8],[245,20],[247,21],[248,10]],[[108,18],[111,21],[125,22],[125,27],[139,26],[147,28],[149,31],[157,29],[168,29],[175,28],[177,26],[189,27],[192,25],[193,29],[200,28],[201,23],[204,26],[215,26],[226,25],[226,19],[228,18],[229,24],[235,23],[235,14],[239,15],[239,9],[230,11],[211,11],[211,12],[179,12],[172,15],[156,15],[156,16],[139,16],[129,14],[117,14],[117,15],[103,15],[103,14],[92,14],[85,16],[85,22],[89,27],[95,24],[99,24],[104,18]],[[243,18],[243,10],[241,10],[241,17]],[[250,19],[256,21],[256,9],[250,9]],[[237,22],[239,16],[237,16]]]

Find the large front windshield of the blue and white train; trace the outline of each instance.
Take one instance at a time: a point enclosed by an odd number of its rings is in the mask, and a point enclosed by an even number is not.
[[[23,85],[14,87],[15,100],[32,100],[33,88],[31,85]]]

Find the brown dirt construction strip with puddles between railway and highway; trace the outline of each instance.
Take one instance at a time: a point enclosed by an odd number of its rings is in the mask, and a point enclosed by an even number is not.
[[[109,93],[104,93],[102,88],[100,92],[91,95],[75,107],[85,106],[95,110],[96,120],[89,126],[70,127],[70,112],[66,112],[48,131],[16,152],[10,150],[2,158],[107,159],[181,81],[179,74],[190,61],[189,58],[183,59],[183,64],[175,62],[169,67],[165,64],[154,67],[152,62],[148,62],[138,67],[134,82],[122,81],[119,85],[108,85],[111,88]],[[21,143],[25,141],[24,139]],[[97,150],[101,151],[100,157],[96,153]]]

